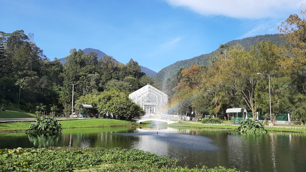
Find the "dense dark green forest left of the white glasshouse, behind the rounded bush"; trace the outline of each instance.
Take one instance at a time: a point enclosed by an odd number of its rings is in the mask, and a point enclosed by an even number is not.
[[[147,83],[151,77],[141,72],[131,59],[126,65],[111,56],[99,61],[97,54],[71,49],[64,65],[50,61],[33,42],[34,34],[23,30],[0,32],[0,104],[37,111],[71,110],[72,86],[74,99],[81,95],[118,88],[129,94]],[[45,106],[45,108],[41,108]],[[53,108],[52,108],[53,107]],[[55,110],[54,110],[55,109]]]

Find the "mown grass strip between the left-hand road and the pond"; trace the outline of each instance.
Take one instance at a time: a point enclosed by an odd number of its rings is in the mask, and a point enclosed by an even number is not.
[[[132,121],[116,119],[81,119],[58,121],[62,124],[63,129],[68,128],[88,128],[88,127],[117,127],[117,126],[138,126],[139,124]],[[8,122],[0,123],[0,131],[24,131],[29,128],[31,122]]]

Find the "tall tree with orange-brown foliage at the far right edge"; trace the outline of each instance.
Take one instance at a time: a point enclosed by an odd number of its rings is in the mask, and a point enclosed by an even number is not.
[[[292,49],[280,49],[279,55],[282,58],[280,65],[287,73],[291,81],[288,84],[291,93],[289,101],[292,104],[293,113],[298,115],[301,122],[306,121],[306,9],[297,14],[290,14],[289,17],[278,27],[282,37],[286,39]]]

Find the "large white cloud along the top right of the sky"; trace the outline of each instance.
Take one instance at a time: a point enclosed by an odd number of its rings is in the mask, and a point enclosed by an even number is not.
[[[201,15],[259,19],[299,12],[304,0],[165,0],[174,7],[187,7]]]

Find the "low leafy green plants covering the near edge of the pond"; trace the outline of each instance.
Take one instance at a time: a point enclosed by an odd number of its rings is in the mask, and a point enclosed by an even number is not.
[[[235,169],[208,169],[176,166],[177,159],[121,148],[41,148],[0,150],[0,171],[114,171],[114,172],[236,172]]]

